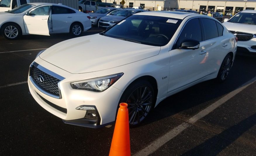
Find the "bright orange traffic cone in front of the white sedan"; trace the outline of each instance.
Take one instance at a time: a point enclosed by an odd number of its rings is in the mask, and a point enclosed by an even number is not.
[[[114,134],[111,142],[109,156],[130,156],[129,116],[126,103],[121,103],[118,109]]]

